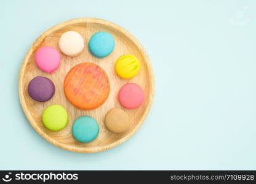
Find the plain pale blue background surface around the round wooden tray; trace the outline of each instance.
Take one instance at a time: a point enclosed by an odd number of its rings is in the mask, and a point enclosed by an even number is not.
[[[255,1],[0,1],[0,169],[256,169]],[[151,111],[118,147],[73,153],[26,120],[18,75],[34,40],[61,21],[96,17],[150,55]]]

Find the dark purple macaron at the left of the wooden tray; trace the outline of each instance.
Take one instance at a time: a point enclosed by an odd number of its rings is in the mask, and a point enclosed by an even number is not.
[[[54,83],[46,77],[34,77],[28,84],[28,94],[38,102],[45,102],[54,96]]]

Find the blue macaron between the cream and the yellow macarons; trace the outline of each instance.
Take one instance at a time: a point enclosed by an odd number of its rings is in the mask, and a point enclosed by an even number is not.
[[[89,40],[89,51],[96,58],[104,58],[114,50],[114,37],[105,31],[95,33]]]

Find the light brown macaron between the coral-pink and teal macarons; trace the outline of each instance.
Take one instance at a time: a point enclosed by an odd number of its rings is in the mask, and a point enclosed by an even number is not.
[[[113,108],[106,113],[105,125],[111,132],[122,133],[130,128],[130,120],[124,110]]]

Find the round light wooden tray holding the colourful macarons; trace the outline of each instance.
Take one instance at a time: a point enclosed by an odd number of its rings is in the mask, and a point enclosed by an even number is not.
[[[86,47],[81,55],[71,58],[64,55],[58,48],[58,39],[66,31],[77,31],[84,37]],[[107,31],[111,33],[116,42],[116,46],[113,52],[106,58],[95,58],[90,55],[87,48],[90,37],[98,31]],[[34,61],[34,53],[38,48],[43,46],[55,47],[59,50],[62,61],[57,71],[54,74],[47,74],[41,71]],[[132,79],[121,79],[114,70],[114,64],[119,56],[124,54],[132,54],[137,56],[141,62],[141,69],[138,75]],[[63,90],[63,81],[65,75],[70,71],[71,67],[82,62],[92,62],[102,67],[108,77],[110,78],[110,95],[106,99],[105,103],[94,110],[79,110],[74,107],[67,99]],[[27,87],[28,83],[34,77],[41,75],[52,80],[55,84],[55,95],[47,102],[37,102],[30,98],[28,95]],[[145,92],[145,100],[143,104],[137,109],[125,109],[119,104],[118,91],[122,85],[134,82],[140,85]],[[30,124],[44,139],[50,143],[57,145],[70,151],[77,152],[97,152],[103,151],[108,148],[112,148],[121,144],[127,140],[135,131],[142,125],[150,106],[154,95],[154,75],[153,69],[150,63],[146,51],[142,45],[130,34],[126,29],[111,23],[110,21],[100,20],[96,18],[76,18],[73,20],[64,21],[48,29],[42,33],[41,36],[34,42],[28,53],[26,53],[22,66],[20,67],[20,77],[18,82],[18,90],[20,95],[20,103],[22,104],[23,111],[30,121]],[[69,123],[66,128],[61,131],[50,131],[45,128],[41,121],[42,111],[49,105],[60,104],[66,108],[69,116]],[[118,107],[125,110],[132,122],[132,126],[129,131],[122,134],[115,134],[108,131],[105,127],[104,117],[108,110],[113,107]],[[89,115],[95,118],[100,126],[100,132],[97,139],[90,143],[78,142],[74,139],[71,132],[73,121],[82,115]]]

